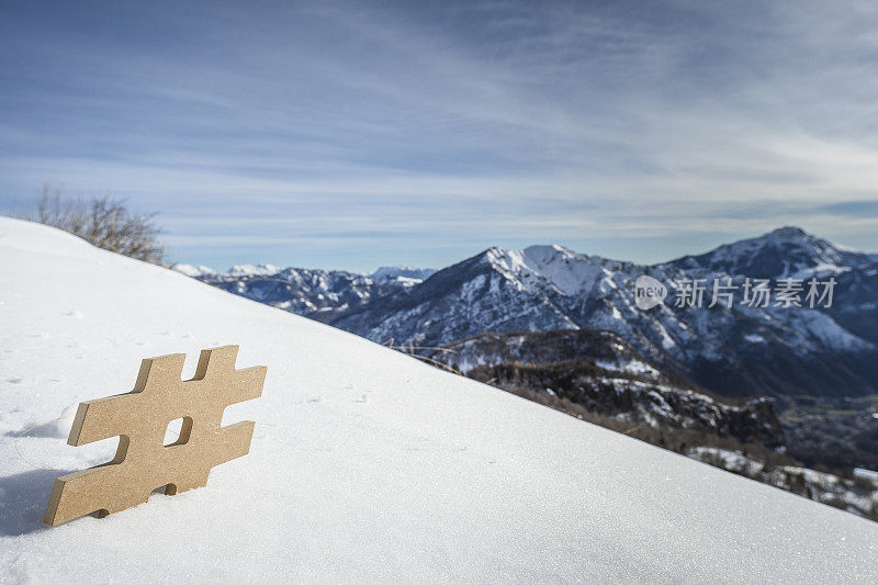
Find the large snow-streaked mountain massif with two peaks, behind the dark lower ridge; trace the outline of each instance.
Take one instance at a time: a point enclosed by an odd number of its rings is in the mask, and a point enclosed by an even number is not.
[[[752,273],[751,273],[752,271]],[[833,277],[830,308],[718,304],[651,311],[634,302],[646,274],[671,291],[684,279]],[[705,296],[710,300],[710,292]],[[731,396],[856,395],[878,389],[878,262],[797,228],[712,252],[638,266],[560,246],[491,248],[421,284],[329,320],[369,339],[442,346],[483,331],[607,329],[644,357]]]

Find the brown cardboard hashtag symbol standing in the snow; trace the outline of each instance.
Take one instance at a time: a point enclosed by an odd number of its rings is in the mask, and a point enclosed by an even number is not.
[[[238,346],[205,349],[195,376],[181,380],[185,355],[143,360],[132,392],[79,405],[68,445],[119,436],[112,461],[55,480],[44,521],[56,526],[98,511],[103,517],[149,498],[207,483],[211,468],[246,455],[255,424],[221,427],[226,406],[262,394],[266,367],[235,370]],[[180,437],[165,445],[171,420]]]

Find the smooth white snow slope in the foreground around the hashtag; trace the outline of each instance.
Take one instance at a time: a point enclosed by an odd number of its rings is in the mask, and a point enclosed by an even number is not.
[[[268,365],[225,413],[257,421],[248,455],[42,524],[54,479],[115,448],[67,446],[69,406],[226,344]],[[878,524],[9,218],[0,396],[3,582],[878,582]]]

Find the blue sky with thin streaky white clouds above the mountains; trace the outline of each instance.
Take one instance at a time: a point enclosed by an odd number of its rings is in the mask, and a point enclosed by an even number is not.
[[[369,271],[797,225],[878,251],[878,3],[0,0],[0,213]]]

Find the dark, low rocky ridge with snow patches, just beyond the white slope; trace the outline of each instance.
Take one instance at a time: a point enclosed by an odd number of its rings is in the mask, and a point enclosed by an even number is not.
[[[690,439],[732,438],[770,449],[785,445],[768,398],[729,401],[674,380],[606,330],[481,334],[429,353],[470,378],[509,391],[529,390],[589,413]]]

